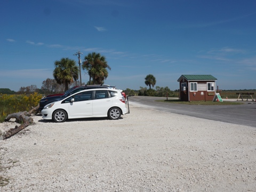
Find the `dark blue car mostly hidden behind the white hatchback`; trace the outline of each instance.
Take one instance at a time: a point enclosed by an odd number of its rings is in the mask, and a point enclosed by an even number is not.
[[[87,89],[97,89],[97,88],[107,88],[107,89],[116,89],[115,86],[109,86],[109,85],[82,85],[78,86],[75,89],[63,94],[63,95],[57,95],[57,96],[52,96],[52,97],[46,97],[40,100],[39,102],[39,110],[43,110],[44,106],[47,104],[54,102],[54,101],[60,101],[62,99],[65,99],[71,94],[74,94],[76,92],[82,91],[82,90],[87,90]],[[123,92],[122,92],[123,94]]]

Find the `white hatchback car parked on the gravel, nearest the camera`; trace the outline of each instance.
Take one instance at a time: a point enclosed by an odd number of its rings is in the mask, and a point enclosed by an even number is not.
[[[90,89],[49,103],[41,111],[43,119],[65,122],[73,118],[109,117],[119,119],[129,113],[122,90]],[[129,104],[128,104],[129,105]]]

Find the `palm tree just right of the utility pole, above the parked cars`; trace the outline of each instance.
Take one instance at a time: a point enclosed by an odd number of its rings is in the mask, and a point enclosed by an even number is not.
[[[91,84],[91,78],[93,81],[93,85],[95,84],[102,84],[104,80],[108,77],[108,66],[106,58],[100,53],[89,53],[85,56],[85,61],[83,62],[82,68],[88,71],[89,75],[89,84]]]

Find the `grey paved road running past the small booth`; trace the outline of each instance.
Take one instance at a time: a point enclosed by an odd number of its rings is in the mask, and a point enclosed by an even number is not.
[[[225,106],[201,106],[201,105],[182,105],[178,103],[164,103],[155,100],[165,100],[166,98],[132,96],[129,103],[137,106],[153,108],[171,113],[212,119],[214,121],[235,123],[256,127],[256,102],[247,101],[243,105]],[[228,101],[224,101],[228,102]],[[236,101],[242,102],[242,101]],[[132,113],[132,111],[131,111]]]

